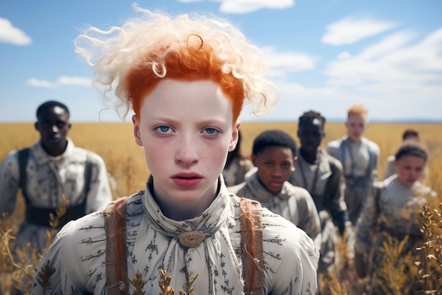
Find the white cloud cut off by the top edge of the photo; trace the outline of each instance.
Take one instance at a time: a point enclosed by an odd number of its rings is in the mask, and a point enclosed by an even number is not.
[[[294,0],[220,0],[223,13],[250,13],[262,8],[284,9],[294,6]]]

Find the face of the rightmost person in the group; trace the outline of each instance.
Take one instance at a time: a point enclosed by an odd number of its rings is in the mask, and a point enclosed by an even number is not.
[[[394,162],[398,180],[402,185],[411,187],[422,175],[425,161],[418,156],[402,156]]]

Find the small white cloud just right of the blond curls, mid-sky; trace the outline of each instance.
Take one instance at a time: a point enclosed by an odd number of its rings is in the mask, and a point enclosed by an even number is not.
[[[277,52],[274,47],[261,47],[270,68],[271,76],[283,77],[289,73],[315,68],[317,57],[299,52]]]

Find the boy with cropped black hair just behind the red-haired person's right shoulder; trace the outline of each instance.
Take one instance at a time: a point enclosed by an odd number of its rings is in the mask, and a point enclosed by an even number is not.
[[[292,221],[321,247],[321,223],[315,203],[303,187],[289,180],[297,161],[294,139],[281,130],[266,130],[253,141],[251,160],[256,170],[229,192],[255,199],[271,212]]]

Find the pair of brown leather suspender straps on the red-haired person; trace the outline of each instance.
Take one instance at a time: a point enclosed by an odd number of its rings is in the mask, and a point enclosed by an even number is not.
[[[129,295],[126,260],[126,202],[121,197],[107,205],[106,280],[108,295]],[[241,198],[241,250],[246,295],[264,295],[263,223],[261,204]]]

